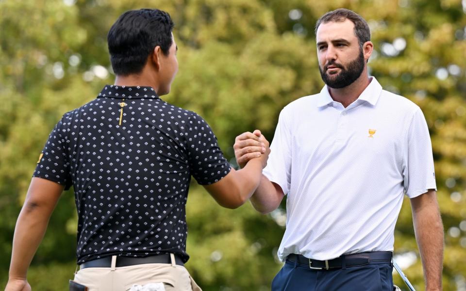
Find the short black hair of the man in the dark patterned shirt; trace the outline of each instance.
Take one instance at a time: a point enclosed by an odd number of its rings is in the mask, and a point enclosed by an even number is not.
[[[140,73],[154,47],[168,55],[173,21],[158,9],[130,10],[118,17],[107,35],[108,51],[116,75]]]

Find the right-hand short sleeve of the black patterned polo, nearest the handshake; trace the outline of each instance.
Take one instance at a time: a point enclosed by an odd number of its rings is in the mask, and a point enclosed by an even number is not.
[[[231,165],[218,147],[212,129],[196,113],[188,122],[186,148],[191,174],[199,184],[213,184],[230,172]]]

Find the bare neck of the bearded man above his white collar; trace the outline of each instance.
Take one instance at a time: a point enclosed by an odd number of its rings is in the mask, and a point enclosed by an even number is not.
[[[330,96],[334,101],[340,102],[343,107],[348,107],[351,103],[356,101],[361,93],[369,85],[370,80],[367,74],[367,67],[362,72],[361,76],[356,79],[352,84],[344,88],[334,89],[330,88]]]

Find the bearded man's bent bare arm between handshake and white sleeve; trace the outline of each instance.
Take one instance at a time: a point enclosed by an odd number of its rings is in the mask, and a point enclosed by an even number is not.
[[[280,186],[274,185],[266,176],[262,175],[261,183],[254,195],[251,196],[250,201],[254,209],[262,214],[267,214],[277,209],[282,199],[283,192]]]

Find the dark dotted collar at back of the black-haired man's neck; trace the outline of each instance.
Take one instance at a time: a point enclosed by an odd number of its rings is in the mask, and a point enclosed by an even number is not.
[[[116,86],[105,85],[100,91],[99,97],[117,98],[117,99],[156,99],[159,98],[152,87],[146,86]]]

